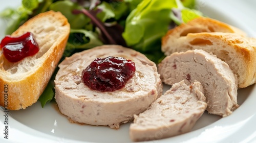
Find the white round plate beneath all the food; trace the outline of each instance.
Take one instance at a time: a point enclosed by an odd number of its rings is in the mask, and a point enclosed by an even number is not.
[[[0,11],[16,7],[20,1],[1,2]],[[198,9],[205,15],[239,27],[256,37],[254,14],[256,1],[198,1]],[[4,36],[5,21],[0,21],[0,38]],[[166,89],[166,88],[165,88]],[[149,142],[253,142],[256,141],[256,86],[238,91],[241,105],[227,117],[203,114],[193,131],[162,140]],[[54,103],[41,108],[40,103],[26,110],[9,111],[8,138],[4,138],[4,112],[0,110],[0,142],[131,142],[129,124],[119,130],[108,127],[71,124],[61,115]]]

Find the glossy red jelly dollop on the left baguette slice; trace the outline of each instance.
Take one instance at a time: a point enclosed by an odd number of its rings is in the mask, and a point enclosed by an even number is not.
[[[7,35],[0,43],[5,58],[10,62],[17,62],[25,57],[33,56],[39,51],[33,34],[27,32],[19,37]]]

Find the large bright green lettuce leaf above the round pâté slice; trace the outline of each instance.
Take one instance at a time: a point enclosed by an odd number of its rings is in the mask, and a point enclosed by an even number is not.
[[[172,8],[177,8],[175,1],[142,1],[126,19],[122,36],[127,45],[141,52],[159,50]]]

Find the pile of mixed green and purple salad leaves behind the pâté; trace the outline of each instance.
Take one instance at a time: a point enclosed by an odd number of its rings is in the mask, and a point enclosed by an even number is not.
[[[6,34],[11,34],[39,13],[60,11],[71,26],[62,59],[98,45],[119,44],[158,63],[164,58],[161,38],[168,29],[202,16],[194,8],[195,0],[22,0],[0,17],[8,21]],[[39,98],[42,107],[54,97],[54,78]]]

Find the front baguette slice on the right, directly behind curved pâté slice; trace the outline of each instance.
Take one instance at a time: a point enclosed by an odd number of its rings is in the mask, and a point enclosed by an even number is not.
[[[171,35],[162,43],[165,55],[174,52],[202,49],[226,62],[238,77],[238,87],[244,88],[256,82],[256,42],[236,33],[189,33],[174,38]]]

